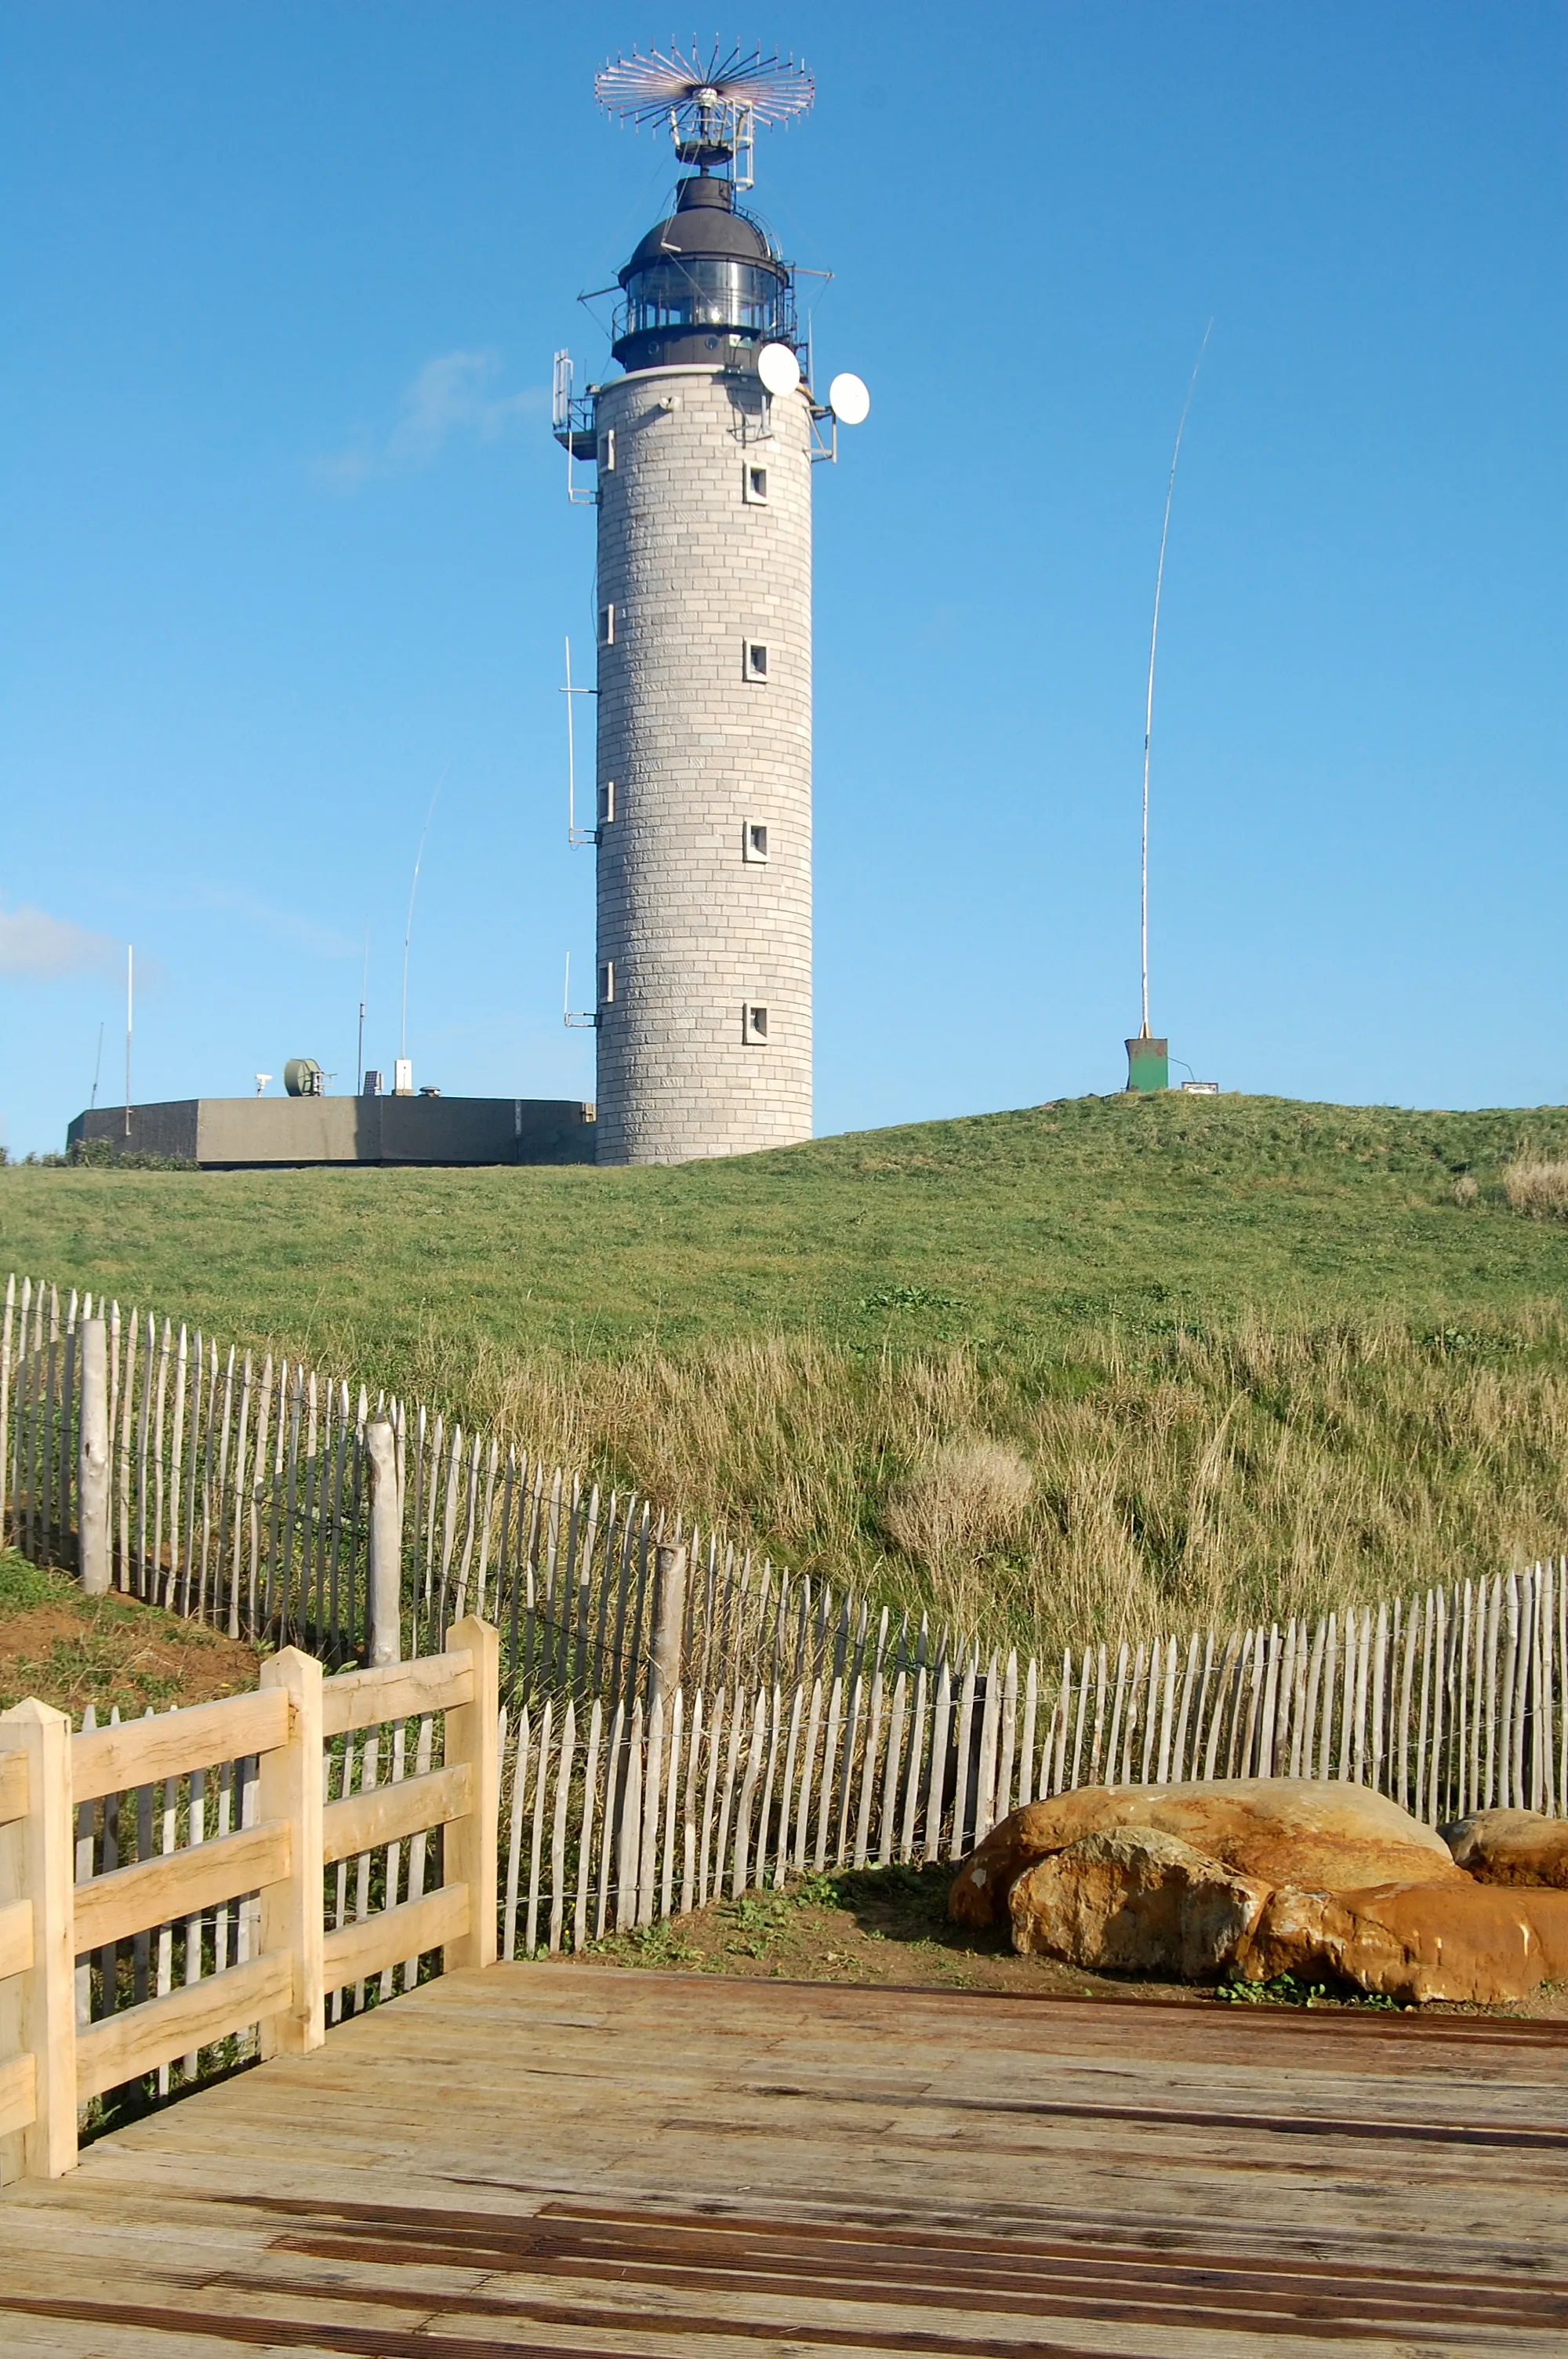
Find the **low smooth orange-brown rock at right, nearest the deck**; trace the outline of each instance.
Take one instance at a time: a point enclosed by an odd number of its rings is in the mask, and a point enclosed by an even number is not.
[[[1441,1885],[1304,1892],[1283,1885],[1236,1946],[1247,1982],[1351,1982],[1417,2005],[1497,2005],[1568,1977],[1568,1892],[1500,1892],[1460,1875]]]

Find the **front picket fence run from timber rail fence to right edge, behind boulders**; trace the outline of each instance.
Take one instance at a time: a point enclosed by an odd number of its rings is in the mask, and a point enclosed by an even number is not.
[[[665,1703],[547,1696],[502,1732],[505,1958],[792,1875],[962,1859],[1075,1786],[1346,1779],[1431,1826],[1568,1795],[1568,1569],[1179,1642],[872,1661]]]

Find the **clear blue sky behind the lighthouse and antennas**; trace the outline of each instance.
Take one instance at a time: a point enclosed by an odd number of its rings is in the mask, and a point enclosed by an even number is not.
[[[1153,1019],[1238,1090],[1568,1097],[1568,14],[792,7],[757,208],[832,269],[818,1130],[1125,1078],[1148,602]],[[0,9],[0,1121],[123,1090],[592,1095],[549,354],[660,215],[637,12]],[[823,281],[806,278],[809,300]],[[274,1083],[274,1090],[278,1083]]]

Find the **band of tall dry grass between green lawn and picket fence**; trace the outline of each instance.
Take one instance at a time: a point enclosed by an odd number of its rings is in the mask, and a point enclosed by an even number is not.
[[[427,1399],[934,1618],[1030,1644],[1287,1616],[1568,1533],[1554,1312],[1478,1335],[1342,1323],[1070,1356],[762,1338],[446,1364]]]

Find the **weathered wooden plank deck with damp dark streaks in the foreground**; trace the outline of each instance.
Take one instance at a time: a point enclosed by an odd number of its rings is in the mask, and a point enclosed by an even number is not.
[[[1568,2024],[450,1974],[0,2201],[52,2359],[1568,2350]]]

